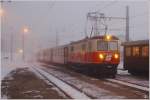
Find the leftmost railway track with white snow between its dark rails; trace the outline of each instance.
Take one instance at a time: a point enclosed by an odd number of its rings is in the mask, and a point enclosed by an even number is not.
[[[89,96],[86,93],[83,93],[82,90],[76,88],[75,86],[63,81],[62,79],[48,73],[45,70],[32,67],[34,71],[36,71],[38,74],[40,74],[43,78],[45,78],[47,81],[51,82],[54,86],[56,86],[58,89],[60,89],[66,96],[72,99],[93,99],[94,97]]]

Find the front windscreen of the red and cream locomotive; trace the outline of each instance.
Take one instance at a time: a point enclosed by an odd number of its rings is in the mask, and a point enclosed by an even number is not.
[[[97,50],[118,50],[117,41],[97,41]]]

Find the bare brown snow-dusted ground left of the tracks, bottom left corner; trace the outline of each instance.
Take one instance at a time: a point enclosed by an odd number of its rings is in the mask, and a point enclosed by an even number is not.
[[[45,79],[45,78],[44,78]],[[30,67],[16,69],[1,81],[2,99],[67,99],[50,81],[37,77]]]

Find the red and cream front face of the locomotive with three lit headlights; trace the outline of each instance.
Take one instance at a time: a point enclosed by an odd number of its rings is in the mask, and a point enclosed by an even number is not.
[[[97,60],[99,63],[117,65],[120,61],[119,40],[111,35],[97,40]]]

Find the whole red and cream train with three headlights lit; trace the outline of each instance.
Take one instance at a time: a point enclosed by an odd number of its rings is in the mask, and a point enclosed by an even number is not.
[[[113,35],[94,36],[37,53],[38,61],[74,66],[98,76],[114,78],[120,62],[120,41]]]

